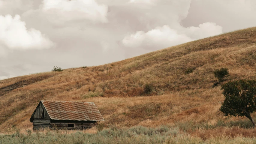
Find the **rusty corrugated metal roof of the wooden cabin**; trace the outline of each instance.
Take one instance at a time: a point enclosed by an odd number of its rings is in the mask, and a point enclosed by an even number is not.
[[[51,119],[74,121],[104,121],[92,102],[41,101]]]

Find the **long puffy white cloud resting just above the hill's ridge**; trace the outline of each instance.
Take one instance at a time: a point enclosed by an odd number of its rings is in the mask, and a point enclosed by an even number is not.
[[[122,44],[133,49],[157,50],[221,33],[222,27],[211,22],[200,24],[199,27],[180,26],[179,31],[165,25],[148,32],[137,31],[135,34],[127,35]]]

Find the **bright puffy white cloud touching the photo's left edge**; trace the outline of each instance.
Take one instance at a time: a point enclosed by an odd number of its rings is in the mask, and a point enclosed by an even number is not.
[[[20,20],[19,15],[6,15],[0,16],[1,45],[9,49],[48,49],[54,43],[36,29],[27,30],[26,23]]]

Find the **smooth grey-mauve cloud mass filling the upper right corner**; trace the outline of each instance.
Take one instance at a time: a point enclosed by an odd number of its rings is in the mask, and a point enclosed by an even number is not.
[[[255,0],[194,0],[184,26],[197,26],[211,21],[223,27],[224,32],[256,26]]]

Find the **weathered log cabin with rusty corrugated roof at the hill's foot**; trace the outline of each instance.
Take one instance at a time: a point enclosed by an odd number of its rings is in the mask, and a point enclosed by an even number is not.
[[[33,130],[83,130],[104,121],[94,103],[68,101],[40,101],[29,120],[33,123]]]

